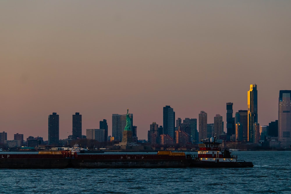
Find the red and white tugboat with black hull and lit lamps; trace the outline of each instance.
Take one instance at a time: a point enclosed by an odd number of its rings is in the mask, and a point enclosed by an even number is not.
[[[203,168],[245,168],[253,167],[252,162],[238,160],[237,156],[230,155],[229,150],[221,151],[219,145],[221,143],[213,142],[200,142],[199,151],[197,155],[192,155],[191,167]],[[213,138],[212,138],[213,139]]]

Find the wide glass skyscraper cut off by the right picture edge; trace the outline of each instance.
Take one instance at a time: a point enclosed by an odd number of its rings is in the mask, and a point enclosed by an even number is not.
[[[291,145],[291,90],[280,90],[278,108],[278,141],[281,147]]]

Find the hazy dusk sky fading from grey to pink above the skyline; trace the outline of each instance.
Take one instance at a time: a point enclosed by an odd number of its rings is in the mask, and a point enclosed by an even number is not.
[[[163,107],[208,123],[233,102],[258,122],[278,119],[291,90],[291,1],[0,1],[0,131],[60,138],[82,115],[82,134],[112,114],[133,114],[139,139],[163,125]]]

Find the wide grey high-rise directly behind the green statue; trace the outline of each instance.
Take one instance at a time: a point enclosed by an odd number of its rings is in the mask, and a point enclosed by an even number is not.
[[[132,119],[131,122],[131,130],[133,128],[133,114],[129,114],[129,117]],[[126,114],[125,115],[118,115],[112,114],[112,136],[114,140],[122,140],[122,133],[126,126]]]

